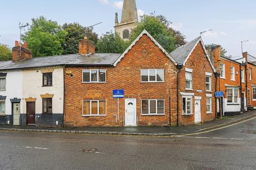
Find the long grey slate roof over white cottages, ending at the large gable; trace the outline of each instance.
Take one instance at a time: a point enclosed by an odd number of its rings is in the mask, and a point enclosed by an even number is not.
[[[121,54],[95,53],[90,55],[59,55],[34,57],[19,62],[0,62],[0,70],[28,69],[35,67],[62,66],[62,65],[113,65]]]

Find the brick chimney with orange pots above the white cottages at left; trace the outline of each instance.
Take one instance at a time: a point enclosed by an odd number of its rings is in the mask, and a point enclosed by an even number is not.
[[[15,47],[12,48],[12,61],[21,61],[32,58],[32,52],[27,49],[27,43],[20,47],[19,41],[15,41]]]

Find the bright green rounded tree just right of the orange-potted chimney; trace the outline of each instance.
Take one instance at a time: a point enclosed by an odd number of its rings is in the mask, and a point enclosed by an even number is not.
[[[32,19],[32,24],[22,39],[27,41],[34,57],[44,57],[61,55],[66,35],[67,32],[56,21],[39,16]]]

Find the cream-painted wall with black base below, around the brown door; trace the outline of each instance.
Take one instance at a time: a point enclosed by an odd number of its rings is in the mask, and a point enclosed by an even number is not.
[[[43,74],[41,70],[23,71],[22,98],[36,98],[36,114],[42,113],[42,98],[44,94],[54,94],[52,98],[53,114],[63,114],[64,92],[63,68],[54,69],[51,87],[43,87]],[[26,113],[26,101],[23,100],[23,113]]]

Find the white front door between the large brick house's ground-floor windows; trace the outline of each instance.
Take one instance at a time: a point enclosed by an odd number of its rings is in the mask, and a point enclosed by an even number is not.
[[[125,99],[125,126],[137,126],[136,99]]]

